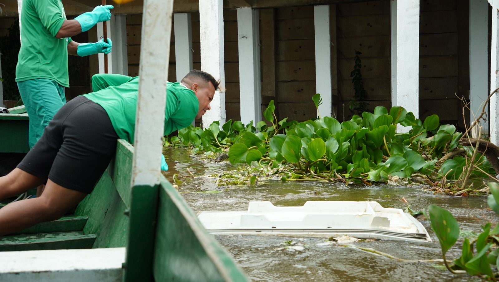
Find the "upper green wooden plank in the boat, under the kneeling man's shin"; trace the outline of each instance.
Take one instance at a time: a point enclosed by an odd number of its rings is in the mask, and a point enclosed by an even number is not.
[[[10,235],[82,231],[87,220],[87,216],[68,216],[54,221],[38,223]]]

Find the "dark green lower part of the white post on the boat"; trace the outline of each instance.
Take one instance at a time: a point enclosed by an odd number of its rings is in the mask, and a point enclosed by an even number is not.
[[[159,185],[140,185],[132,188],[124,282],[154,281],[153,256],[158,189]]]

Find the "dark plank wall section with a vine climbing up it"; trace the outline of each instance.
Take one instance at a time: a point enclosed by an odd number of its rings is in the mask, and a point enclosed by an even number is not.
[[[349,103],[355,94],[350,77],[355,51],[362,53],[359,57],[367,108],[373,111],[376,106],[391,106],[390,1],[336,7],[338,120],[342,122],[350,119]]]

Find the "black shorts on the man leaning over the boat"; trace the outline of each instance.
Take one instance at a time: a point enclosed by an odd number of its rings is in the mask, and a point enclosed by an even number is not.
[[[78,96],[55,114],[17,167],[90,194],[114,156],[118,138],[106,111]]]

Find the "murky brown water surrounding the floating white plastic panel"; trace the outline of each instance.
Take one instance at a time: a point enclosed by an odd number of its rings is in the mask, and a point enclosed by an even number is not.
[[[231,164],[201,163],[191,158],[185,149],[165,151],[170,170],[165,173],[172,181],[174,173],[194,175],[212,174],[234,169]],[[487,210],[487,197],[449,197],[433,195],[421,186],[350,185],[323,182],[268,181],[248,187],[217,188],[206,178],[181,178],[179,192],[195,211],[247,210],[250,201],[270,201],[277,206],[301,206],[306,201],[377,201],[385,207],[413,210],[431,204],[449,210],[461,229],[480,233],[481,226],[498,216]],[[189,191],[220,190],[221,193],[189,193]],[[414,243],[394,240],[364,241],[356,246],[373,248],[407,260],[441,259],[438,238],[428,221],[422,222],[432,237],[432,243]],[[251,281],[297,282],[468,282],[481,281],[469,275],[453,275],[437,269],[431,263],[407,263],[391,260],[354,248],[323,244],[327,238],[300,238],[294,236],[217,235],[220,244],[232,254]],[[283,249],[285,241],[292,240],[292,248]],[[460,245],[460,238],[456,245]],[[460,256],[457,247],[447,253],[448,259]]]

